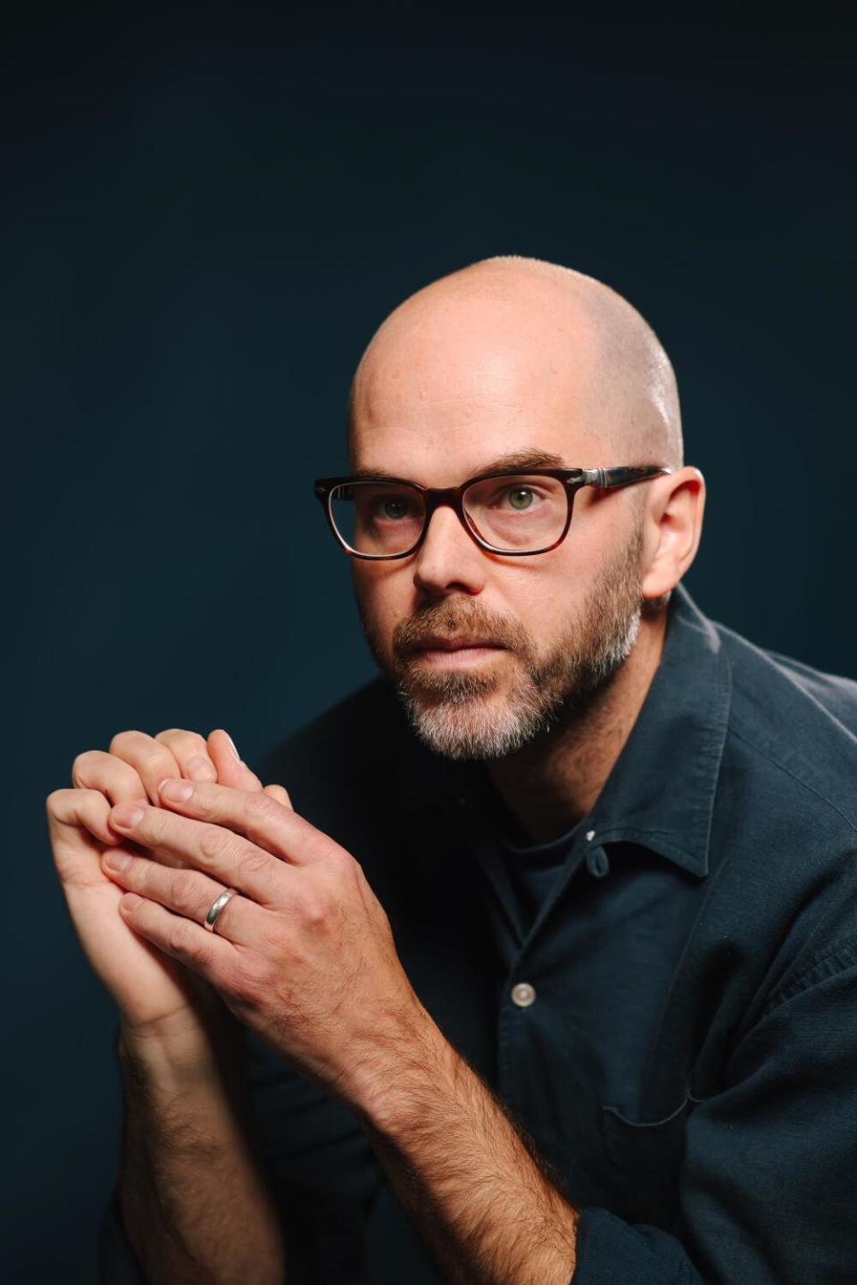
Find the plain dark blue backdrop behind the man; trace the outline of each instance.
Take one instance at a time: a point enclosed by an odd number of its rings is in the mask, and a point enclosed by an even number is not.
[[[252,759],[370,676],[310,482],[411,290],[515,252],[626,294],[709,486],[691,592],[857,673],[844,8],[121,8],[4,39],[15,1281],[93,1280],[118,1142],[44,799],[118,730],[225,726]]]

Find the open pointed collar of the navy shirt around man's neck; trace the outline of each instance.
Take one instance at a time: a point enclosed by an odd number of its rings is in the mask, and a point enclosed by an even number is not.
[[[682,870],[708,874],[717,779],[731,705],[721,637],[677,585],[660,663],[586,829],[599,844],[641,843]],[[400,759],[403,811],[454,810],[484,781],[481,763],[456,763],[409,732]]]

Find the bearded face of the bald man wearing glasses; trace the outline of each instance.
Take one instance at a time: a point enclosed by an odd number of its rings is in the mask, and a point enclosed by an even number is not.
[[[540,338],[522,335],[519,308],[483,301],[400,326],[358,383],[353,466],[447,487],[513,452],[639,463],[599,446],[585,342],[569,361],[569,335],[560,355]],[[352,571],[367,642],[416,732],[448,757],[491,759],[579,713],[617,672],[640,623],[641,554],[633,492],[585,488],[550,553],[487,553],[442,506],[415,554]]]

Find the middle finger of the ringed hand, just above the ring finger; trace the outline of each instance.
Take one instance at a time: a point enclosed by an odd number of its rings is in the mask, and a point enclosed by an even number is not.
[[[189,786],[190,781],[182,784]],[[193,786],[199,788],[200,785]],[[206,788],[225,789],[222,785]],[[261,793],[226,793],[238,798],[266,798]],[[272,806],[279,807],[276,803]],[[262,906],[283,906],[288,902],[288,889],[283,887],[285,864],[233,830],[143,803],[119,803],[110,812],[110,825],[119,834],[152,849],[157,857],[161,853],[179,856],[194,870],[203,870]]]

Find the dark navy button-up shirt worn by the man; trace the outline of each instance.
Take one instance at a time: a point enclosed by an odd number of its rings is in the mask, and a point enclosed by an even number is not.
[[[857,1280],[856,731],[857,684],[678,586],[541,874],[484,768],[424,749],[380,680],[257,765],[362,864],[423,1004],[582,1212],[573,1285]],[[356,1115],[245,1049],[289,1282],[437,1285]],[[140,1279],[114,1200],[102,1264]]]

